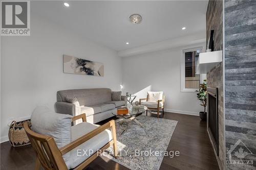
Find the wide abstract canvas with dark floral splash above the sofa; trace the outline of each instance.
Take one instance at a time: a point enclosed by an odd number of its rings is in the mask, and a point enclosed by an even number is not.
[[[103,63],[63,55],[63,72],[78,75],[104,76]]]

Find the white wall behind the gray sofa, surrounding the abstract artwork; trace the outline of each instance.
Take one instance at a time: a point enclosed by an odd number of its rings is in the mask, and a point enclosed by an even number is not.
[[[63,54],[102,62],[104,77],[63,74]],[[31,36],[1,37],[1,141],[8,139],[10,117],[30,116],[36,105],[54,109],[58,90],[120,90],[121,76],[115,51],[31,15]]]

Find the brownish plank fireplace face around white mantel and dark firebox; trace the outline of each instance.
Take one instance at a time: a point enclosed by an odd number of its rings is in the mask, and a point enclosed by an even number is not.
[[[209,1],[206,12],[206,38],[214,30],[214,51],[223,50],[223,1]],[[208,86],[218,88],[218,114],[219,114],[219,156],[216,157],[220,169],[225,168],[225,120],[223,104],[223,62],[207,73]]]

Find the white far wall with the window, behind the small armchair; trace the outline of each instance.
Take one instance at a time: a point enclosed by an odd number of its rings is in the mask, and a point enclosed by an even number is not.
[[[185,48],[123,57],[123,93],[135,93],[138,101],[146,98],[148,90],[163,91],[166,111],[198,115],[203,108],[196,93],[181,92],[180,87],[181,53]]]

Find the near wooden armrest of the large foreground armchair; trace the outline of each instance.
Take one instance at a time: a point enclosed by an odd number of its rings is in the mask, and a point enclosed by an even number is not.
[[[72,141],[71,143],[65,145],[64,147],[60,148],[61,155],[64,155],[67,152],[73,150],[74,148],[78,147],[82,143],[86,142],[87,140],[91,139],[92,137],[98,135],[100,132],[103,132],[105,129],[108,129],[108,128],[115,129],[115,121],[114,120],[110,120],[110,122],[105,123],[104,125],[98,127],[97,129],[94,129],[93,131],[87,133],[86,135],[83,135],[83,136],[79,137],[78,139]],[[116,135],[116,134],[112,134],[112,135]],[[114,138],[114,137],[115,136],[112,136],[112,138]]]

